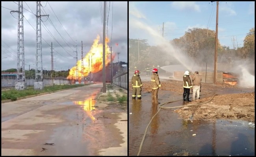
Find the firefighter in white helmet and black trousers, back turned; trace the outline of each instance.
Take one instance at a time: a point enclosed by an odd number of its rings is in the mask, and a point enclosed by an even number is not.
[[[189,71],[185,71],[183,76],[183,89],[184,89],[183,101],[187,101],[187,102],[191,101],[189,100],[190,88],[192,88],[192,84],[191,84],[191,79],[189,77]]]

